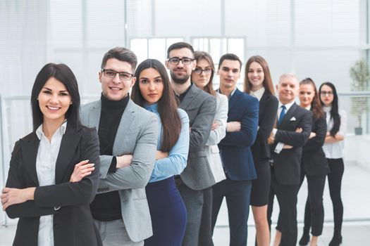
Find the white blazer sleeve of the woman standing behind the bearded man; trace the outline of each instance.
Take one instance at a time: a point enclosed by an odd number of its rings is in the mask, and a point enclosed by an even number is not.
[[[226,124],[228,121],[228,98],[217,93],[218,108],[214,117],[214,122],[218,122],[218,127],[209,134],[206,145],[216,145],[226,136]]]

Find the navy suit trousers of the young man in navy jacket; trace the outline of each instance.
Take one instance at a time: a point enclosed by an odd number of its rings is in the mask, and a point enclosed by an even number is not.
[[[248,216],[252,181],[233,181],[225,179],[213,186],[212,231],[216,224],[223,197],[228,205],[230,227],[230,246],[247,245]]]

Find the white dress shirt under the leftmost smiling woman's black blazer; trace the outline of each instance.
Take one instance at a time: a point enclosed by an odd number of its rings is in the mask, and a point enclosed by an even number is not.
[[[39,150],[36,158],[36,171],[39,186],[55,184],[55,165],[63,134],[66,132],[67,122],[59,127],[51,141],[44,135],[42,124],[37,128],[36,135],[39,138]],[[40,216],[38,246],[54,246],[53,215]]]

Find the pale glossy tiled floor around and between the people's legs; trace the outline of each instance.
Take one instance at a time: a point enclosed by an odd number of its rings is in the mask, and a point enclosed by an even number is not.
[[[344,205],[343,246],[369,246],[370,245],[370,167],[365,164],[345,163],[343,176],[342,197]],[[298,194],[298,238],[302,235],[302,219],[304,202],[307,196],[307,186],[304,182]],[[328,245],[333,235],[333,212],[331,200],[326,185],[324,191],[325,224],[323,234],[319,238],[320,245]],[[274,208],[278,206],[274,206]],[[278,211],[273,212],[273,221],[276,222]],[[254,225],[252,214],[249,216],[248,245],[254,245]],[[0,246],[11,245],[15,233],[15,226],[0,226]],[[274,235],[275,232],[272,233]],[[228,245],[228,215],[226,205],[223,204],[218,215],[214,231],[214,245]]]

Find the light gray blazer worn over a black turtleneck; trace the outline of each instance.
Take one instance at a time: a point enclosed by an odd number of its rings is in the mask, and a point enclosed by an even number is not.
[[[101,101],[83,105],[81,121],[99,129]],[[152,174],[156,157],[158,119],[152,112],[128,101],[118,126],[113,144],[113,155],[133,155],[132,164],[108,173],[113,156],[100,155],[100,181],[98,193],[118,190],[121,198],[123,222],[133,242],[152,235],[145,186]],[[99,132],[98,132],[99,134]]]

